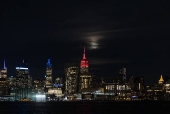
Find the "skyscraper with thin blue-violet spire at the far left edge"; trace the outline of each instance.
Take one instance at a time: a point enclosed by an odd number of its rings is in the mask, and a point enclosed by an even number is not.
[[[7,68],[4,60],[4,67],[0,70],[0,95],[6,95],[7,90]]]

